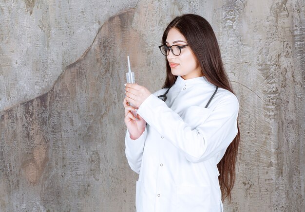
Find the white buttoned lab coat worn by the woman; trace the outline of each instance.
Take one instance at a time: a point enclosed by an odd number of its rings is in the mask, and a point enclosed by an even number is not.
[[[166,102],[150,95],[137,113],[147,122],[144,133],[130,139],[126,157],[139,174],[137,212],[221,212],[217,163],[237,134],[239,104],[235,95],[215,91],[205,77],[177,77]]]

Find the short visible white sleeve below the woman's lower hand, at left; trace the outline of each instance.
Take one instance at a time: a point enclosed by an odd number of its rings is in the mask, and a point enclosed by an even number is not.
[[[125,136],[125,155],[130,168],[137,174],[140,173],[146,134],[147,130],[145,127],[142,135],[136,140],[130,138],[128,130]]]

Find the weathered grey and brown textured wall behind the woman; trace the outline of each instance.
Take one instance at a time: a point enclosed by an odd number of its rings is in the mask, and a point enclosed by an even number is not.
[[[240,102],[226,211],[305,211],[299,0],[0,1],[0,211],[134,211],[126,55],[139,84],[160,88],[157,46],[183,13],[210,21]]]

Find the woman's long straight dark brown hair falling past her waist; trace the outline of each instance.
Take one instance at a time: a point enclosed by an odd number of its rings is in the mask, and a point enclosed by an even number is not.
[[[222,63],[217,38],[209,22],[205,18],[194,14],[178,16],[165,29],[162,36],[162,44],[165,44],[167,35],[172,28],[177,29],[184,35],[207,80],[219,88],[224,88],[234,93]],[[177,76],[172,74],[167,59],[166,73],[167,76],[163,88],[170,88],[175,83]],[[235,181],[235,163],[240,139],[238,122],[237,129],[236,137],[230,143],[224,157],[217,164],[220,173],[218,180],[223,201],[227,197],[229,201],[231,200],[231,190]]]

